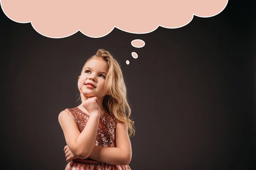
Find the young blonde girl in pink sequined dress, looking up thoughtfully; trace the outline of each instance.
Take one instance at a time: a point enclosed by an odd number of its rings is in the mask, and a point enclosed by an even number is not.
[[[134,122],[121,68],[108,51],[100,49],[87,60],[78,89],[81,105],[58,116],[71,160],[65,170],[131,170]]]

